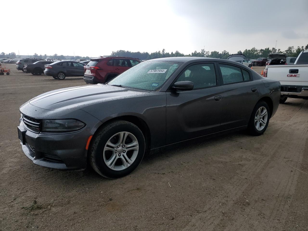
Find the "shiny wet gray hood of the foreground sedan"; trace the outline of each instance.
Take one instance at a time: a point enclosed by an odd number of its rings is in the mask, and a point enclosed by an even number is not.
[[[147,93],[148,91],[96,84],[49,91],[36,96],[29,103],[33,106],[48,110],[82,109],[90,104],[121,98],[138,97]]]

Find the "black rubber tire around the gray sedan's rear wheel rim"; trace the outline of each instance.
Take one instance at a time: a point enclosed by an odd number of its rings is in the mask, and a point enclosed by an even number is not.
[[[259,108],[262,108],[262,107],[264,107],[266,109],[266,111],[267,111],[267,120],[266,120],[266,124],[265,124],[264,128],[262,128],[262,130],[258,130],[256,128],[255,117],[257,115],[257,111],[259,110]],[[263,119],[264,119],[264,116],[263,116]],[[258,102],[256,104],[256,106],[253,108],[253,111],[252,111],[251,116],[250,116],[250,120],[249,120],[249,124],[248,124],[248,131],[249,131],[249,133],[252,136],[260,136],[260,135],[262,135],[265,132],[265,130],[266,130],[268,124],[269,124],[269,121],[270,121],[270,108],[269,108],[269,106],[264,101]],[[259,122],[259,124],[260,124],[260,122]]]

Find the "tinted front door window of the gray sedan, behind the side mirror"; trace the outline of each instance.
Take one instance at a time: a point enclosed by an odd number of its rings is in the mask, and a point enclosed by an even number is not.
[[[213,63],[195,64],[188,67],[176,80],[192,81],[193,89],[216,86],[216,73]]]

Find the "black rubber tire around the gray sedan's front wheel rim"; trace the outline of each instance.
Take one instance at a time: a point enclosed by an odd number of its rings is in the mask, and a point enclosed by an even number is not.
[[[119,132],[129,132],[133,134],[137,141],[138,141],[138,151],[135,157],[135,160],[132,162],[130,166],[123,170],[113,170],[107,166],[107,164],[104,161],[104,148],[106,143],[109,139],[111,139],[115,134]],[[114,137],[116,138],[116,137]],[[117,138],[118,139],[118,138]],[[125,141],[124,141],[125,143]],[[119,147],[119,146],[118,146]],[[116,149],[116,148],[115,148]],[[145,139],[144,135],[141,132],[141,130],[135,125],[128,121],[124,120],[115,120],[111,123],[106,124],[103,128],[101,128],[97,134],[92,138],[91,141],[91,149],[89,150],[89,162],[92,166],[92,168],[97,172],[99,175],[114,179],[119,178],[128,175],[132,171],[134,171],[138,165],[140,164],[145,151]],[[110,151],[111,155],[119,155],[119,157],[116,157],[117,159],[114,161],[116,165],[117,161],[120,161],[119,163],[123,163],[122,159],[124,156],[120,157],[121,151],[117,152],[118,154],[115,154],[116,152]],[[122,151],[124,153],[124,151]],[[122,153],[122,155],[123,155]],[[128,154],[128,152],[127,152]],[[126,155],[126,154],[125,154]],[[110,157],[111,158],[111,157]],[[132,157],[129,157],[132,158]],[[107,157],[106,157],[107,159]]]

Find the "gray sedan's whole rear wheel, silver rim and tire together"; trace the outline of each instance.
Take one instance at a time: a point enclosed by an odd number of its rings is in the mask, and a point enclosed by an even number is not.
[[[270,108],[264,101],[260,101],[253,108],[250,116],[248,130],[253,136],[262,135],[270,121]]]

